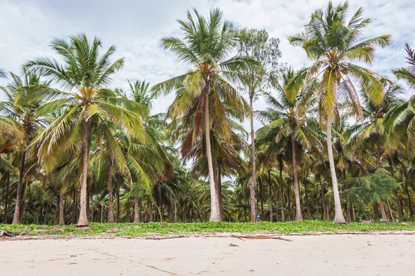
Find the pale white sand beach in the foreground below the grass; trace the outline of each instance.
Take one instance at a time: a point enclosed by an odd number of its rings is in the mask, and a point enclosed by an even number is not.
[[[415,275],[415,235],[287,238],[9,240],[0,275]]]

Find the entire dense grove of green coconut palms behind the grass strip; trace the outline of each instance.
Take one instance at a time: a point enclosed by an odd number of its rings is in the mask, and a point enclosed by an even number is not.
[[[413,219],[415,51],[393,79],[374,72],[390,37],[361,39],[370,20],[347,12],[329,3],[289,37],[308,68],[214,9],[162,39],[188,70],[154,86],[112,88],[124,59],[84,34],[55,39],[22,75],[1,71],[1,221]]]

